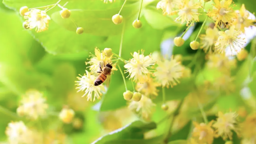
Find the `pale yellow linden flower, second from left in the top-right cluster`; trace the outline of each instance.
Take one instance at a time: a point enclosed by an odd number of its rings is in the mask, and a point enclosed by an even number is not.
[[[186,26],[189,23],[193,23],[193,20],[199,21],[199,12],[198,9],[201,8],[201,2],[195,0],[183,0],[178,8],[178,18],[175,21],[180,21],[181,23],[187,22]]]

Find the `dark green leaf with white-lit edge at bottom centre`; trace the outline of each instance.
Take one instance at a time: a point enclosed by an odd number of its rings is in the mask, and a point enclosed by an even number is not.
[[[144,123],[142,121],[134,121],[123,128],[119,128],[98,138],[98,140],[94,141],[92,144],[112,144],[111,142],[115,142],[115,140],[119,141],[116,141],[115,144],[122,144],[122,142],[125,142],[126,140],[126,142],[131,142],[130,140],[141,140],[143,139],[144,132],[154,128],[156,128],[156,124],[154,122]]]

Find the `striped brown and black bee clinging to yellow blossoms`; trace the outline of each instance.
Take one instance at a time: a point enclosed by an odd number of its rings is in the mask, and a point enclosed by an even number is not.
[[[107,77],[110,76],[111,71],[112,71],[112,64],[106,64],[106,66],[104,66],[103,68],[101,68],[100,66],[100,72],[98,72],[100,74],[94,81],[94,86],[98,86],[102,84],[107,79]]]

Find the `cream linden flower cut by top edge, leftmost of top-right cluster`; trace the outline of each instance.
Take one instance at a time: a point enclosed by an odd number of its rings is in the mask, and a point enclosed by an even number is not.
[[[163,14],[172,15],[175,12],[177,4],[179,4],[178,0],[161,0],[157,3],[156,8],[161,8],[163,10]]]

